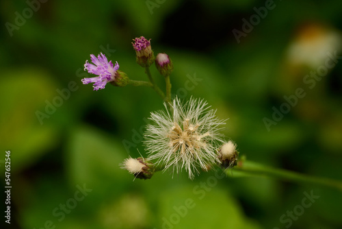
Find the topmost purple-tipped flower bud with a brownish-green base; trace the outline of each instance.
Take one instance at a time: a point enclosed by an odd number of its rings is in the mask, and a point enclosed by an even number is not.
[[[150,40],[140,36],[140,38],[133,39],[133,48],[136,53],[136,61],[141,67],[150,67],[155,61],[155,55],[153,54],[152,48],[150,47]]]

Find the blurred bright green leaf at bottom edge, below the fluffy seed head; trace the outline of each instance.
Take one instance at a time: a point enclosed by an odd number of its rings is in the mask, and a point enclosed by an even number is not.
[[[259,228],[230,193],[211,184],[208,178],[206,187],[195,183],[161,193],[158,228]]]

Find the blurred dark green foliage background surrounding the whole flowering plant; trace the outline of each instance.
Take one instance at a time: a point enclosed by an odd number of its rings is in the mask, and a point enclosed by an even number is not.
[[[145,155],[140,132],[150,112],[163,108],[161,99],[150,88],[92,91],[81,84],[83,64],[100,52],[131,79],[146,80],[131,42],[152,38],[155,53],[174,62],[172,93],[205,98],[218,109],[228,119],[224,134],[248,160],[342,180],[341,60],[315,86],[303,82],[328,52],[341,55],[342,1],[30,2],[0,3],[0,165],[4,174],[10,150],[12,180],[5,228],[342,228],[342,195],[329,188],[234,171],[195,180],[165,172],[133,182],[119,164],[139,156],[137,149]],[[265,4],[272,10],[261,10],[265,16],[254,16],[244,32],[243,19]],[[233,29],[244,32],[239,42]],[[58,100],[57,91],[73,82],[75,90]],[[268,131],[263,119],[297,88],[305,97]],[[49,103],[58,106],[48,114]],[[39,120],[38,113],[46,116]],[[82,197],[84,186],[92,191]],[[319,199],[300,212],[311,191]],[[299,216],[291,219],[293,209]]]

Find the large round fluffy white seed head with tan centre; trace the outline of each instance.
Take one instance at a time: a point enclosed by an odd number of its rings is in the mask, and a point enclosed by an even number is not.
[[[209,110],[206,101],[192,98],[185,104],[174,99],[170,110],[164,105],[166,111],[151,113],[155,123],[147,126],[148,160],[157,159],[157,165],[172,167],[176,173],[184,167],[191,179],[198,168],[207,171],[207,165],[220,162],[216,152],[224,141],[218,131],[224,121],[215,117],[215,110]]]

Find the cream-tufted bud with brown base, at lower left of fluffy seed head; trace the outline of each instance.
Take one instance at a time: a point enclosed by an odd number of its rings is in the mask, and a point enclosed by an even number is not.
[[[150,179],[154,173],[153,164],[144,158],[127,158],[122,162],[122,169],[126,169],[132,173],[135,178]]]

